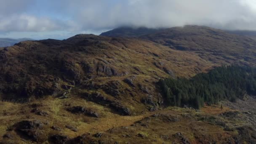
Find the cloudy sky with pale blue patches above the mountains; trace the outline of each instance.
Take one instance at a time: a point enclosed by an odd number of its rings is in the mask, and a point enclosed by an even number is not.
[[[187,24],[256,30],[256,0],[0,0],[0,37],[66,39]]]

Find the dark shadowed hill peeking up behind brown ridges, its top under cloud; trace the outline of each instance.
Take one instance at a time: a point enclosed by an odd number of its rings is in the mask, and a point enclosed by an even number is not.
[[[147,27],[119,27],[108,32],[101,33],[101,36],[107,37],[139,37],[141,35],[152,34],[161,29],[150,29]]]

